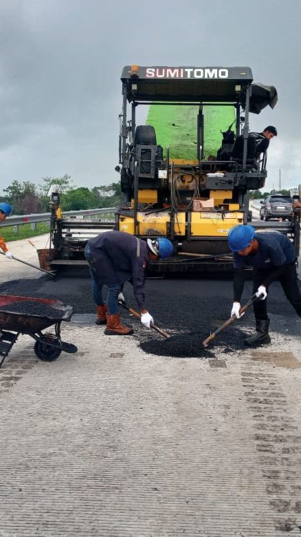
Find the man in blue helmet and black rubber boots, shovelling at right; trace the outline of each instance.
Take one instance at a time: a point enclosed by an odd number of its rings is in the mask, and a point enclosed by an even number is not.
[[[254,267],[254,290],[260,299],[254,302],[256,334],[245,339],[245,344],[257,346],[269,343],[269,317],[267,293],[276,280],[299,317],[301,317],[301,293],[296,271],[296,252],[286,235],[278,231],[256,233],[249,225],[233,227],[228,235],[234,261],[234,302],[231,316],[239,319],[241,295],[244,284],[244,268]]]

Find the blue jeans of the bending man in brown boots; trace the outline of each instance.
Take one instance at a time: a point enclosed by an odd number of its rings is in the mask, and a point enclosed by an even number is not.
[[[104,284],[102,284],[97,276],[95,264],[93,262],[93,257],[91,255],[91,251],[89,249],[89,245],[85,247],[85,258],[87,262],[89,263],[89,271],[91,274],[91,280],[92,280],[92,295],[94,302],[97,306],[103,306],[104,305],[104,299],[102,297],[102,287]],[[114,284],[114,285],[108,285],[108,293],[107,293],[107,308],[109,315],[116,315],[118,313],[118,295],[122,291],[123,284]]]

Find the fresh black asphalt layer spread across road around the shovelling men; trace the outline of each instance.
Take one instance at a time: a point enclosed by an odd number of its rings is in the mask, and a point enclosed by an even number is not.
[[[91,282],[87,273],[74,277],[57,276],[38,280],[16,280],[0,285],[1,294],[60,299],[74,308],[74,314],[95,313]],[[252,295],[252,282],[245,282],[242,304]],[[124,286],[128,306],[137,309],[133,289]],[[254,315],[250,308],[243,319],[226,328],[205,349],[201,342],[230,317],[232,308],[232,280],[218,277],[166,277],[146,280],[146,305],[155,324],[172,337],[164,339],[155,330],[143,328],[139,319],[120,308],[122,321],[134,328],[134,337],[141,348],[150,354],[174,357],[220,357],[222,352],[245,348],[244,338],[254,329]],[[301,319],[287,302],[280,284],[269,290],[268,310],[271,329],[285,335],[301,333]],[[103,328],[103,327],[102,327]],[[102,330],[100,328],[100,330]]]

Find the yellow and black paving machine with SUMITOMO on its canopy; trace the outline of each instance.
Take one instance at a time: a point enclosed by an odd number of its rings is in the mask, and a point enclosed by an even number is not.
[[[116,169],[123,203],[115,229],[172,240],[177,255],[157,271],[225,266],[227,234],[251,220],[249,191],[267,177],[267,154],[256,154],[249,113],[274,108],[276,88],[253,83],[249,67],[127,65],[121,80]],[[136,125],[141,105],[150,112]],[[289,232],[287,224],[275,226]]]

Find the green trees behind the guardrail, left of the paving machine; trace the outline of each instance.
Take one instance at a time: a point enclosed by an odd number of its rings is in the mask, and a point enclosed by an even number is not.
[[[15,215],[47,213],[49,211],[49,188],[59,185],[60,204],[63,211],[80,211],[101,207],[118,207],[121,202],[120,182],[100,185],[89,189],[76,187],[71,176],[43,177],[41,185],[30,181],[13,180],[11,185],[3,189],[1,202],[12,205]]]

